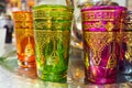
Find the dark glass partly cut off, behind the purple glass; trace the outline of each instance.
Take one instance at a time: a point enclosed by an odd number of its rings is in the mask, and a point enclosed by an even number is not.
[[[122,48],[120,57],[120,74],[125,80],[132,81],[132,11],[128,11],[125,30],[122,32]]]

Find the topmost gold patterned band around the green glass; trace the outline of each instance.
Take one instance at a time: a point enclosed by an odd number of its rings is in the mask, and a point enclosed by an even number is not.
[[[58,8],[57,8],[58,9]],[[73,18],[73,11],[65,11],[65,10],[57,10],[56,8],[53,9],[40,9],[40,10],[34,10],[34,20],[37,19],[53,19],[53,20],[72,20]]]

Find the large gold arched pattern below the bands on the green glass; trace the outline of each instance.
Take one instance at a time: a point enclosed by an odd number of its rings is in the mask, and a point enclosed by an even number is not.
[[[37,51],[37,61],[47,61],[45,62],[47,65],[55,66],[59,62],[58,52],[57,52],[57,44],[58,42],[62,43],[65,47],[64,58],[67,57],[68,48],[69,48],[69,38],[70,38],[70,31],[50,31],[50,30],[35,30],[35,43],[36,43],[36,51]],[[56,41],[58,41],[56,43]],[[48,58],[45,58],[43,54],[44,48],[46,45],[53,43],[53,51],[52,54],[48,55]],[[52,59],[55,58],[55,59]],[[44,63],[42,63],[43,65]]]

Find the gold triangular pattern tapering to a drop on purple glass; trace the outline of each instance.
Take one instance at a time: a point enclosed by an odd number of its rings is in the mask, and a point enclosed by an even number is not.
[[[85,32],[84,35],[85,41],[92,51],[94,64],[99,65],[102,50],[114,40],[113,32]]]

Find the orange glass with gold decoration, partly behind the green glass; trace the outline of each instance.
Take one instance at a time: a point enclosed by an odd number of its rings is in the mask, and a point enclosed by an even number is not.
[[[33,13],[30,11],[15,11],[13,12],[13,20],[19,65],[22,67],[34,67]]]

